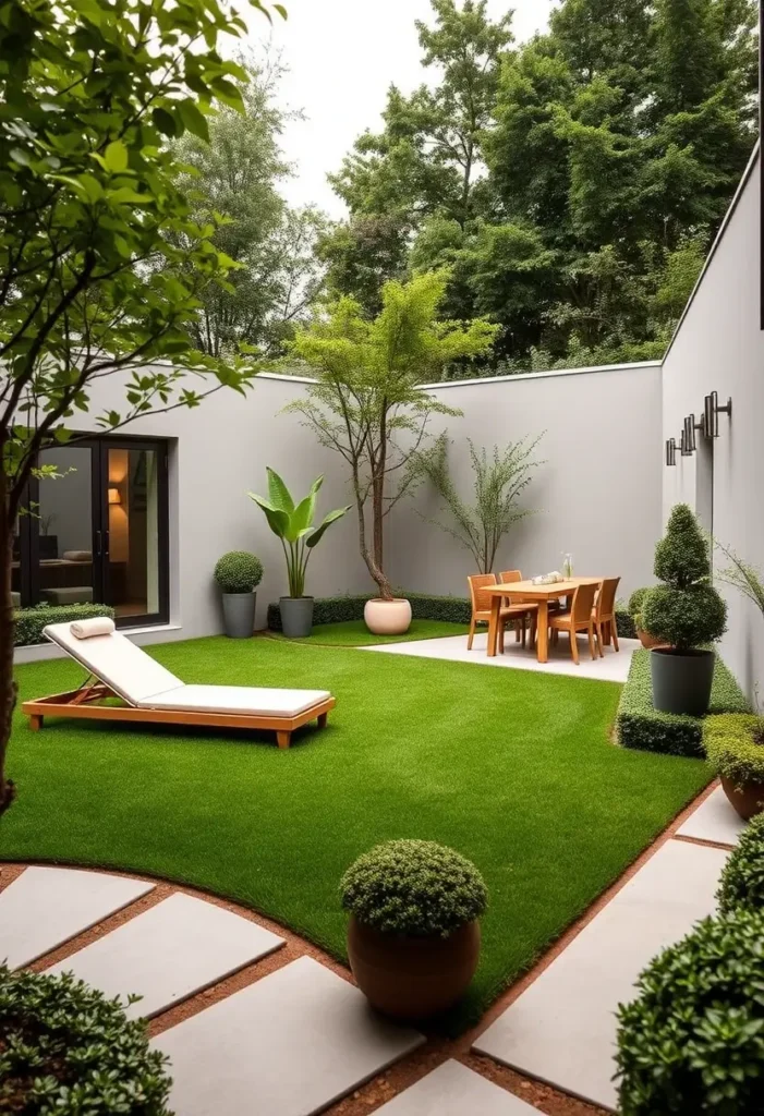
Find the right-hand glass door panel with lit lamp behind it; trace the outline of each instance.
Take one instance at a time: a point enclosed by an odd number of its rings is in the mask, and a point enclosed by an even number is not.
[[[105,600],[119,622],[166,618],[164,446],[105,446]]]

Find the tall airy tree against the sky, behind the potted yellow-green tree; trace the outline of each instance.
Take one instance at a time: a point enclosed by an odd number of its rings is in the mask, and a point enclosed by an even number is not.
[[[490,209],[482,138],[491,122],[500,60],[512,41],[511,13],[492,21],[487,0],[431,3],[434,26],[417,21],[416,30],[422,65],[434,71],[432,86],[422,85],[408,97],[391,86],[383,131],[360,136],[330,176],[350,220],[325,241],[329,278],[338,292],[361,297],[370,312],[379,309],[381,282],[403,275],[408,243],[423,222],[454,222],[464,233]],[[358,235],[370,222],[377,229],[385,223],[384,256],[378,240]],[[361,264],[365,249],[368,262]],[[379,267],[383,261],[386,271]],[[427,266],[443,262],[428,259]],[[367,276],[378,277],[376,288],[352,286],[361,266]]]

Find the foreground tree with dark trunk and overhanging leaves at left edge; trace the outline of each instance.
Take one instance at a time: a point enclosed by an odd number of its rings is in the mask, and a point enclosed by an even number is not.
[[[267,13],[260,0],[249,0]],[[273,4],[284,15],[283,9]],[[191,339],[231,260],[193,220],[168,138],[242,109],[217,52],[246,26],[214,0],[8,0],[0,19],[0,809],[12,682],[13,525],[42,450],[68,441],[94,385],[123,388],[105,430],[196,406],[255,368]],[[161,362],[151,366],[151,362]],[[31,511],[33,513],[33,510]]]

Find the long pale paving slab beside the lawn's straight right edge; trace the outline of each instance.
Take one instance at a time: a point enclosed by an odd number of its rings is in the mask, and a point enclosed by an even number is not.
[[[714,912],[728,853],[669,840],[477,1039],[497,1061],[615,1110],[616,1016],[661,949]]]

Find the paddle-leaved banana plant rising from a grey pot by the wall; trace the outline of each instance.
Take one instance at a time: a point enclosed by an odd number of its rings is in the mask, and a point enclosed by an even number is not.
[[[296,504],[279,474],[270,466],[267,472],[268,499],[258,496],[257,492],[248,492],[246,494],[264,512],[268,526],[281,540],[287,559],[289,596],[303,597],[306,570],[313,547],[323,538],[326,529],[350,510],[350,504],[347,508],[330,511],[322,523],[313,527],[316,497],[323,483],[323,477],[313,481],[308,496]]]

